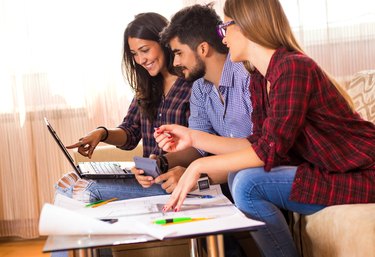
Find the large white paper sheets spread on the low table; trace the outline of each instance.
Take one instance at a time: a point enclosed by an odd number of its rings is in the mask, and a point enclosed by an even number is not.
[[[166,213],[161,209],[169,195],[115,201],[97,208],[87,208],[83,203],[57,195],[55,205],[44,205],[39,231],[41,235],[145,234],[163,239],[263,225],[243,215],[221,193],[220,186],[194,193],[212,198],[186,198],[180,212]],[[204,219],[170,225],[154,224],[158,219],[176,217]],[[118,220],[113,224],[99,220],[113,218]]]

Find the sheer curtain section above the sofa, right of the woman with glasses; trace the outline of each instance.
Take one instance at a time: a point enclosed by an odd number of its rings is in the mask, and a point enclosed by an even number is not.
[[[375,68],[375,2],[281,0],[297,39],[326,71],[346,83]]]

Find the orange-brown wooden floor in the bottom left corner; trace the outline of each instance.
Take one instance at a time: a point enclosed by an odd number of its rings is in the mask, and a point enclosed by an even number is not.
[[[42,253],[45,239],[0,241],[0,257],[49,257]]]

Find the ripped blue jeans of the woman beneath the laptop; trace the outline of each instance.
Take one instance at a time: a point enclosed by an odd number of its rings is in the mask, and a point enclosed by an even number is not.
[[[60,182],[65,179],[65,182]],[[83,202],[95,202],[118,198],[119,200],[167,194],[159,184],[143,188],[136,179],[78,179],[75,174],[68,173],[55,185],[56,194],[63,194]],[[52,257],[67,257],[68,252],[53,252]],[[100,249],[100,256],[112,256],[111,251]]]

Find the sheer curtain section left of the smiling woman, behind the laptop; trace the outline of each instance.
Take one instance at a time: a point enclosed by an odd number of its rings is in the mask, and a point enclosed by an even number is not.
[[[0,0],[0,237],[38,236],[40,209],[71,170],[65,144],[117,126],[133,92],[121,71],[123,32],[140,12],[168,19],[181,1]]]

